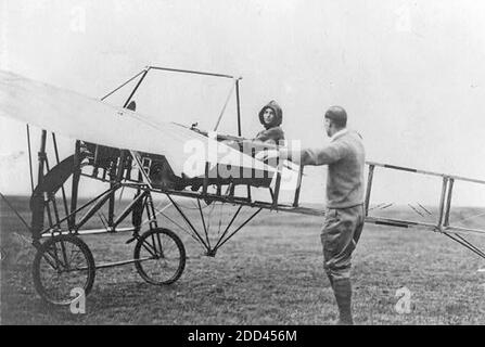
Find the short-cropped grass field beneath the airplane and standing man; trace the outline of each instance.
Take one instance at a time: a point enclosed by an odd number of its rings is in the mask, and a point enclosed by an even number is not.
[[[26,198],[12,202],[27,217]],[[194,214],[195,211],[189,211]],[[390,213],[410,217],[412,211]],[[457,209],[452,217],[476,214]],[[409,215],[409,216],[408,216]],[[192,217],[195,217],[193,215]],[[163,219],[161,219],[163,220]],[[485,224],[482,217],[473,227]],[[2,324],[329,324],[336,306],[322,270],[321,218],[263,211],[215,258],[187,234],[188,260],[173,285],[145,283],[132,265],[97,272],[87,312],[49,307],[31,280],[35,249],[1,205]],[[170,227],[167,224],[167,227]],[[216,228],[216,227],[214,227]],[[129,234],[84,236],[97,262],[132,255]],[[483,248],[485,239],[474,239]],[[447,237],[423,230],[367,224],[354,256],[354,314],[359,324],[485,324],[485,261]],[[399,314],[396,291],[411,293]]]

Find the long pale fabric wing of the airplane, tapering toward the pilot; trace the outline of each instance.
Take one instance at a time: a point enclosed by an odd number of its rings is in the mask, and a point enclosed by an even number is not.
[[[276,171],[176,124],[154,123],[139,113],[4,70],[0,70],[0,116],[76,140],[164,155],[177,176],[204,175],[205,162],[212,167],[219,164]]]

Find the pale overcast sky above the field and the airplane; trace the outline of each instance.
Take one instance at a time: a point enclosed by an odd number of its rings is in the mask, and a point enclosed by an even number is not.
[[[368,160],[485,180],[484,1],[0,0],[0,9],[2,69],[94,98],[146,65],[242,76],[243,136],[260,130],[259,108],[277,100],[288,139],[323,145],[322,115],[336,104]],[[148,88],[145,105],[166,101],[152,104],[164,120],[215,121],[230,86],[174,78]],[[233,108],[226,116],[224,130],[235,133]],[[2,193],[30,190],[25,143],[25,125],[0,118]],[[379,171],[375,202],[435,204],[439,184]],[[324,169],[309,168],[302,198],[319,202],[323,188]],[[485,187],[457,184],[456,202],[485,205]]]

